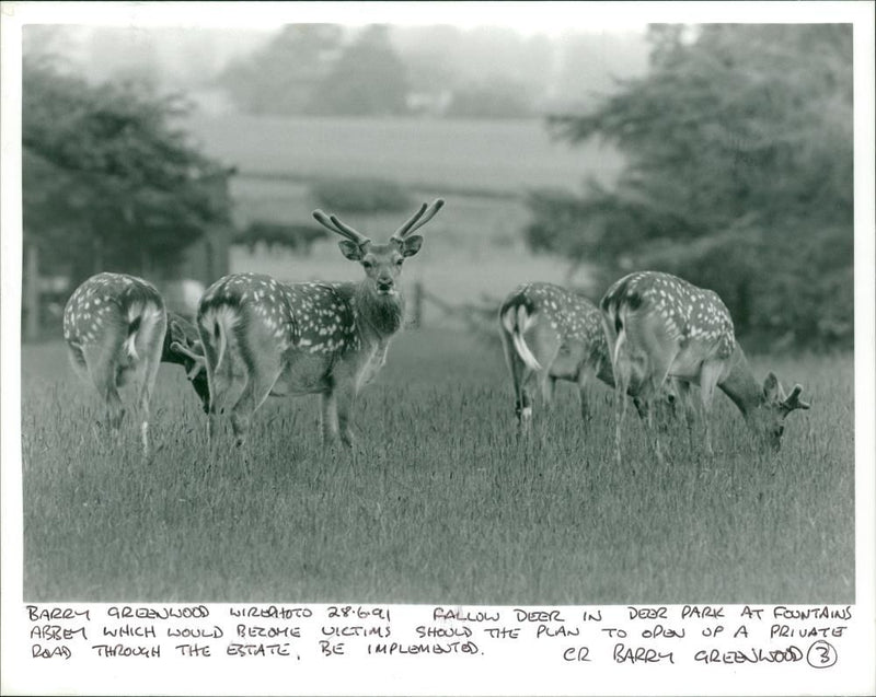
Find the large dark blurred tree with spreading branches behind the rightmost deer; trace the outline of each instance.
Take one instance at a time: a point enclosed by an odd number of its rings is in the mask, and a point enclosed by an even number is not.
[[[627,166],[611,190],[591,184],[577,224],[544,244],[569,248],[564,235],[587,230],[580,255],[702,280],[744,329],[851,341],[839,306],[852,268],[851,28],[653,26],[649,39],[645,77],[551,119],[573,143],[616,143]],[[623,244],[607,255],[614,234]]]

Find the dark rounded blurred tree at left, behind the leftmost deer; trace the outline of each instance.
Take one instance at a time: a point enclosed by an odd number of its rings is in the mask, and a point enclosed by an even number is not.
[[[177,97],[92,86],[25,58],[22,108],[24,241],[42,271],[76,282],[107,268],[172,268],[228,224],[227,170],[171,126]]]

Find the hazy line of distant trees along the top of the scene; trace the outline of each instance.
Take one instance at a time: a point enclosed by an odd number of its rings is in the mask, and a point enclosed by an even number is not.
[[[522,118],[611,88],[613,70],[638,70],[641,50],[635,36],[551,40],[499,27],[372,24],[350,38],[335,24],[290,24],[215,83],[250,114]]]

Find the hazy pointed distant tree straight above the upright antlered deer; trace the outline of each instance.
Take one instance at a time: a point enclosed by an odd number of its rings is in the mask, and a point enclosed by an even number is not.
[[[318,85],[310,111],[321,115],[384,116],[406,108],[405,67],[389,40],[389,27],[364,28]]]

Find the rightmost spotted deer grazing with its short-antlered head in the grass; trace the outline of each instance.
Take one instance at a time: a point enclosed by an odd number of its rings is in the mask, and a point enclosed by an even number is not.
[[[700,386],[705,450],[712,454],[708,411],[715,386],[733,400],[764,445],[777,451],[785,417],[808,409],[800,385],[787,397],[772,372],[759,385],[736,341],[733,320],[721,298],[669,274],[639,271],[618,280],[600,302],[615,376],[615,454],[621,462],[623,392],[644,405],[667,377]],[[649,429],[653,430],[653,429]],[[658,458],[659,438],[654,435]]]

